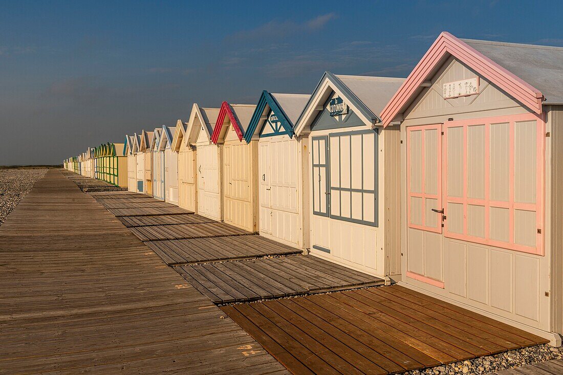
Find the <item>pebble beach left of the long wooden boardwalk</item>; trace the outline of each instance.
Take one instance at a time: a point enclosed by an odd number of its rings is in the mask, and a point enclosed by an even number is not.
[[[0,168],[0,225],[46,172],[46,168]]]

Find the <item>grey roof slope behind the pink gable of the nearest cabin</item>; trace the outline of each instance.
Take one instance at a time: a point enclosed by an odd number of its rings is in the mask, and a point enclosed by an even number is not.
[[[563,104],[563,47],[461,39],[542,92],[543,104]]]

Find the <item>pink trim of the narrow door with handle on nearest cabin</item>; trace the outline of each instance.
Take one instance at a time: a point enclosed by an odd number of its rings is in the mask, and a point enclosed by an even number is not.
[[[408,191],[408,202],[407,204],[407,218],[408,218],[408,225],[411,228],[415,228],[415,229],[421,229],[421,230],[427,230],[427,231],[432,231],[435,233],[442,233],[442,227],[441,227],[441,222],[442,219],[441,217],[439,218],[439,220],[436,220],[438,226],[437,227],[432,227],[432,226],[427,226],[426,225],[426,198],[431,198],[431,199],[436,199],[437,200],[437,206],[438,208],[440,208],[442,206],[442,189],[441,189],[441,180],[442,180],[442,166],[441,166],[441,162],[442,162],[442,155],[441,155],[441,149],[442,149],[442,136],[441,134],[441,128],[442,128],[442,124],[433,124],[433,125],[421,125],[421,126],[409,126],[406,128],[406,186],[407,186],[407,191]],[[438,138],[437,138],[437,194],[428,194],[426,193],[426,185],[425,185],[425,180],[426,180],[426,171],[425,171],[425,132],[427,130],[436,130],[438,133]],[[413,191],[410,191],[410,133],[413,131],[421,131],[421,193],[416,193]],[[422,220],[422,225],[421,224],[412,224],[412,221],[410,220],[410,198],[415,197],[415,198],[421,198],[422,200],[422,206],[421,206],[421,220]],[[436,213],[435,215],[441,216],[441,213]]]

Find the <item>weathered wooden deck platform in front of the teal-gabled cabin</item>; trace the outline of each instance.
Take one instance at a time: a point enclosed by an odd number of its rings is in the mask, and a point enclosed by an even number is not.
[[[234,261],[274,255],[298,255],[302,251],[259,235],[145,242],[169,266]]]

